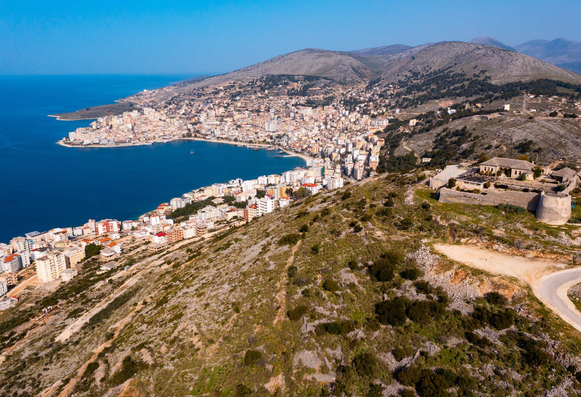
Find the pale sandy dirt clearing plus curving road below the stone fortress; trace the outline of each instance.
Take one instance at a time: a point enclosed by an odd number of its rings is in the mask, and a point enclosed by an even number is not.
[[[563,263],[510,256],[476,246],[436,244],[434,248],[476,269],[526,281],[541,302],[581,332],[581,312],[567,297],[568,289],[581,282],[581,268],[563,270]]]

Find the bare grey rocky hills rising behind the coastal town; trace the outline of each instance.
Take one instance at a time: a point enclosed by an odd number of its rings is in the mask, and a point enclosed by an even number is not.
[[[539,78],[581,83],[578,74],[518,52],[491,45],[444,41],[413,48],[397,44],[350,52],[302,49],[219,76],[153,90],[148,98],[167,99],[198,87],[266,74],[304,74],[330,78],[342,84],[361,84],[381,80],[395,82],[412,73],[437,69],[462,71],[468,75],[472,71],[486,70],[490,82],[495,84]],[[138,98],[130,96],[126,100],[137,101]]]

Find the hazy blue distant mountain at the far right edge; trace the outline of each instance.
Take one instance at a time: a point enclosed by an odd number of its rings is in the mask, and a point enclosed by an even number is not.
[[[531,40],[517,45],[515,48],[526,55],[534,56],[544,62],[553,63],[581,73],[581,43],[555,38],[555,40]]]

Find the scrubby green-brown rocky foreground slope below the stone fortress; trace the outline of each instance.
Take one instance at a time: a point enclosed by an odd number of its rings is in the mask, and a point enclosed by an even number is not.
[[[135,241],[117,259],[128,271],[86,260],[0,314],[0,394],[575,394],[572,328],[526,285],[429,244],[518,242],[563,260],[568,248],[543,248],[532,214],[437,203],[419,175],[382,174],[157,255]]]

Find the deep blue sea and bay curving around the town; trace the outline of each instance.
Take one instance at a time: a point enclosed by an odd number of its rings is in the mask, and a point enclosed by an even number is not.
[[[195,188],[304,166],[297,157],[275,158],[276,151],[213,142],[81,149],[55,143],[92,120],[47,115],[188,77],[0,76],[0,242],[89,218],[137,219]]]

